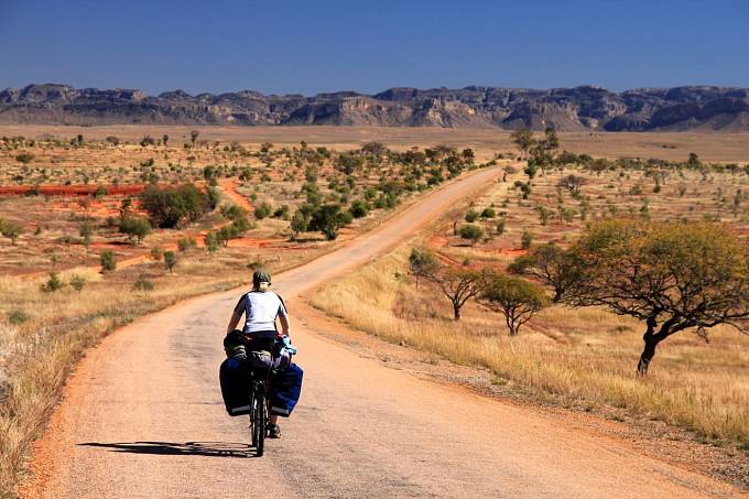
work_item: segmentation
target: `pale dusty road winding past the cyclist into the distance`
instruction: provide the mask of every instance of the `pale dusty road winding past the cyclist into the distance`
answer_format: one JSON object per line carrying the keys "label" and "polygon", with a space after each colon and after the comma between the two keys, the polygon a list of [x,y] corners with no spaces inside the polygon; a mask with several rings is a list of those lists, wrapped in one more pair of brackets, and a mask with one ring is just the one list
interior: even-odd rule
{"label": "pale dusty road winding past the cyclist into the distance", "polygon": [[[387,251],[491,182],[484,171],[275,279],[294,302]],[[302,400],[265,457],[228,417],[220,339],[239,292],[196,299],[109,336],[80,365],[34,462],[28,497],[701,497],[738,493],[572,431],[532,409],[416,379],[294,317]],[[351,306],[356,307],[356,303]],[[305,324],[305,322],[307,324]],[[43,492],[43,493],[41,493]]]}

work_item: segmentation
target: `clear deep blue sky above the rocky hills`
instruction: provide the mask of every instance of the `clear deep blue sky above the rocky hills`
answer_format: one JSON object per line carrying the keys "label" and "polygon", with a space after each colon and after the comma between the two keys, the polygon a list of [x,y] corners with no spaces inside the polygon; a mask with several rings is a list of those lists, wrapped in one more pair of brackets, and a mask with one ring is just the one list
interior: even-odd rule
{"label": "clear deep blue sky above the rocky hills", "polygon": [[0,0],[0,88],[749,87],[749,1]]}

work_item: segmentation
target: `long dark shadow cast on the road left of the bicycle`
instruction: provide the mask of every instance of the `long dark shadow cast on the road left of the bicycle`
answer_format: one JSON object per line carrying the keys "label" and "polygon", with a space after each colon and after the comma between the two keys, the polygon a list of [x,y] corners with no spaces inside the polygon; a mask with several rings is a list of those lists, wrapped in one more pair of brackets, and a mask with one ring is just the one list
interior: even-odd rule
{"label": "long dark shadow cast on the road left of the bicycle", "polygon": [[254,457],[247,444],[226,442],[86,442],[84,447],[109,448],[111,452],[132,454],[156,454],[162,456],[209,456],[209,457]]}

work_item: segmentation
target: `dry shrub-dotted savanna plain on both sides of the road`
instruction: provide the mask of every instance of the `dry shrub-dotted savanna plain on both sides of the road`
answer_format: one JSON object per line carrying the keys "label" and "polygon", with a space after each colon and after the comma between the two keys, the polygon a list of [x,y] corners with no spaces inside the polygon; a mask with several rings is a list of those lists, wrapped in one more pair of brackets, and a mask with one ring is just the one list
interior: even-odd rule
{"label": "dry shrub-dotted savanna plain on both sides of the road", "polygon": [[[532,174],[514,139],[355,127],[0,127],[0,490],[23,476],[76,361],[113,328],[245,283],[249,269],[298,265],[486,167],[503,175],[312,304],[487,371],[502,397],[679,429],[720,449],[710,473],[748,487],[749,337],[728,325],[687,328],[659,344],[638,376],[642,321],[555,303],[549,283],[517,262],[550,242],[567,248],[607,220],[719,225],[746,251],[749,134],[560,133]],[[421,273],[414,249],[455,274],[518,275],[543,290],[543,303],[512,330],[477,292],[456,319],[445,279]]]}

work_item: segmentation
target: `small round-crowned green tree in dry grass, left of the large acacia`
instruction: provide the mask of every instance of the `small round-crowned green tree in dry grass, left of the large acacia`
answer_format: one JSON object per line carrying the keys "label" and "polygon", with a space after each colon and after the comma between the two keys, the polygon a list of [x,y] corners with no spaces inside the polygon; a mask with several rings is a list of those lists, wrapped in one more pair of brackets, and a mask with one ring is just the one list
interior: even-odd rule
{"label": "small round-crowned green tree in dry grass, left of the large acacia", "polygon": [[490,308],[504,316],[510,336],[517,336],[520,327],[549,304],[541,286],[507,275],[491,279],[480,297]]}

